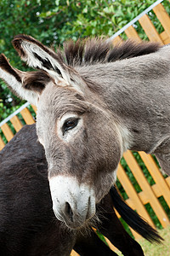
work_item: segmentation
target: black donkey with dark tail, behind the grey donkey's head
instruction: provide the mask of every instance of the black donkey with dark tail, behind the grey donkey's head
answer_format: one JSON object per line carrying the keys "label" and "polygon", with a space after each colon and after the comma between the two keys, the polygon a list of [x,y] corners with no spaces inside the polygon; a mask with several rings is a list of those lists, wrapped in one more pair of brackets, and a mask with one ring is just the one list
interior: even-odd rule
{"label": "black donkey with dark tail, behind the grey donkey's head", "polygon": [[[88,227],[69,230],[54,217],[48,186],[48,164],[37,142],[35,125],[24,126],[0,152],[0,253],[1,255],[69,255],[72,247],[81,255],[116,255]],[[97,206],[97,229],[123,255],[144,255],[137,241],[124,230],[113,209],[149,241],[160,241],[156,230],[144,223],[122,201],[116,189]],[[127,216],[126,216],[127,214]],[[92,222],[93,223],[93,222]],[[91,231],[90,231],[91,230]]]}

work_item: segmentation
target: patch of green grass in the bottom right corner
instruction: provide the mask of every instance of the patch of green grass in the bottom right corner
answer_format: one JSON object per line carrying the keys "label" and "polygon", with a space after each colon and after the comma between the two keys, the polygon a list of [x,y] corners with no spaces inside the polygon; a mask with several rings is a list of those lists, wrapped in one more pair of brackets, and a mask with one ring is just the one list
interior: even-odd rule
{"label": "patch of green grass in the bottom right corner", "polygon": [[[169,256],[170,255],[170,225],[159,231],[160,236],[164,239],[161,244],[150,243],[143,238],[139,240],[139,244],[144,250],[145,256]],[[117,252],[116,252],[117,253]],[[118,252],[118,255],[122,253]]]}

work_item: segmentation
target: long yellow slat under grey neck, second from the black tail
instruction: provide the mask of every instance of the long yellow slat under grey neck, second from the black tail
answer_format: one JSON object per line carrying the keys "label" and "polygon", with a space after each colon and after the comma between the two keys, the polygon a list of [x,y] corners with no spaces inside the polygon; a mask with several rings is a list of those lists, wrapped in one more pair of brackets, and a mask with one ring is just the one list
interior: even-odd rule
{"label": "long yellow slat under grey neck, second from the black tail", "polygon": [[163,208],[161,207],[161,203],[158,201],[153,190],[150,188],[150,184],[144,177],[144,173],[140,169],[138,162],[133,157],[132,152],[127,150],[127,152],[123,154],[123,157],[127,162],[127,166],[129,166],[129,168],[133,172],[133,176],[138,181],[140,188],[144,191],[144,194],[148,196],[150,206],[153,208],[154,212],[156,212],[156,216],[159,219],[162,227],[167,227],[167,225],[169,224],[167,213],[163,210]]}

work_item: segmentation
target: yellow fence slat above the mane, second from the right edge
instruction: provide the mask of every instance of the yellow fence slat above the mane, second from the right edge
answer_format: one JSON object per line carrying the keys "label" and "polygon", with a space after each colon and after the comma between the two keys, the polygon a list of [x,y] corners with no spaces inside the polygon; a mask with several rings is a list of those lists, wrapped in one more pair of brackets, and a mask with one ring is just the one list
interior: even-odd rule
{"label": "yellow fence slat above the mane, second from the right edge", "polygon": [[150,21],[150,18],[147,15],[143,15],[139,19],[140,25],[143,27],[144,32],[146,33],[147,37],[152,42],[159,42],[160,44],[163,44],[161,37],[159,36],[158,32],[156,31],[155,26],[153,26],[152,22]]}

